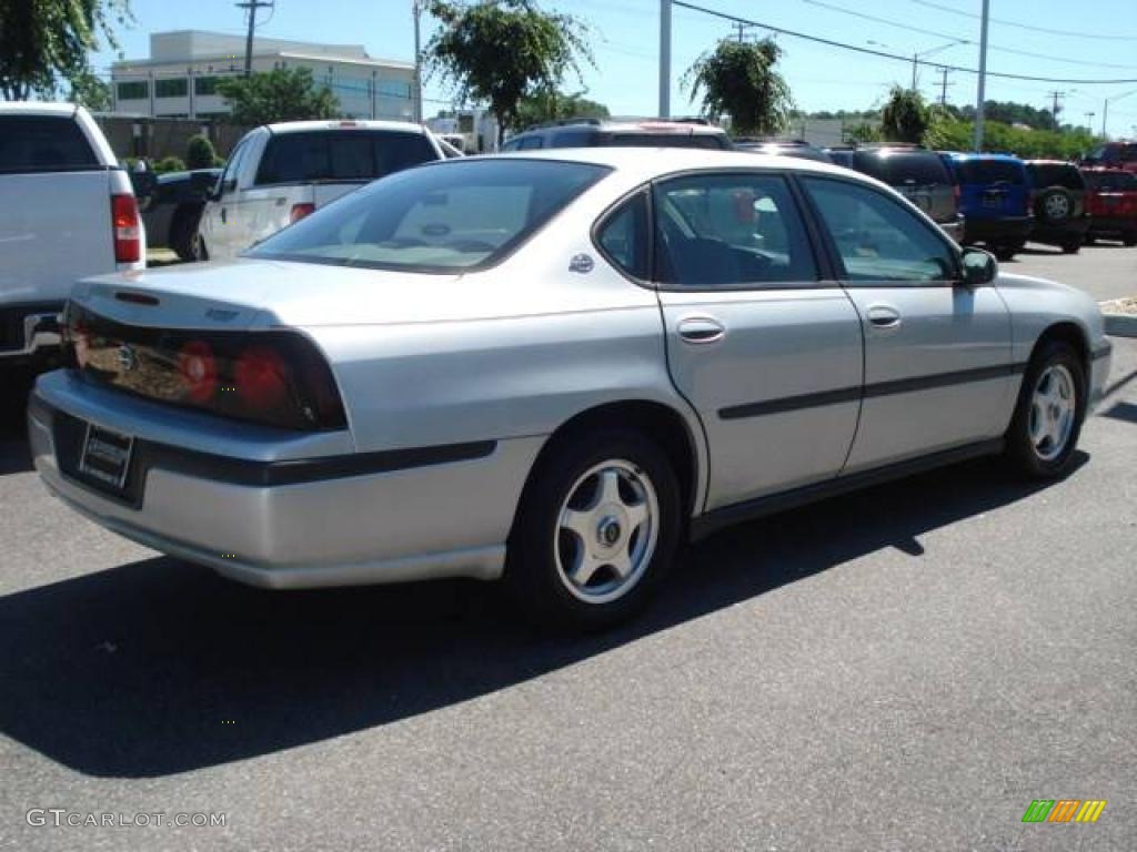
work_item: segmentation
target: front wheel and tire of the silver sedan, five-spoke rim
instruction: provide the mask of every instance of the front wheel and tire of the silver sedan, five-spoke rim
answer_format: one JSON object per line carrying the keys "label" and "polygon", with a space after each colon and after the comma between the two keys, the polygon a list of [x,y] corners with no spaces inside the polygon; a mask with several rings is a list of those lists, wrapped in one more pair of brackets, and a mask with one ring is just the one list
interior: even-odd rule
{"label": "front wheel and tire of the silver sedan, five-spoke rim", "polygon": [[1086,369],[1069,343],[1051,341],[1031,359],[1004,456],[1012,468],[1034,479],[1069,473],[1086,416]]}

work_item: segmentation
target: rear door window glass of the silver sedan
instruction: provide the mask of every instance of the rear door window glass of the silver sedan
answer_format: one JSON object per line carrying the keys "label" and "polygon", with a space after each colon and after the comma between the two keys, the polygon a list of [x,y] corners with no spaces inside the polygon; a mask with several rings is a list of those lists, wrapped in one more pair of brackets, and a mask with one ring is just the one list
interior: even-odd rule
{"label": "rear door window glass of the silver sedan", "polygon": [[781,175],[698,174],[655,187],[656,277],[677,287],[760,289],[818,279]]}

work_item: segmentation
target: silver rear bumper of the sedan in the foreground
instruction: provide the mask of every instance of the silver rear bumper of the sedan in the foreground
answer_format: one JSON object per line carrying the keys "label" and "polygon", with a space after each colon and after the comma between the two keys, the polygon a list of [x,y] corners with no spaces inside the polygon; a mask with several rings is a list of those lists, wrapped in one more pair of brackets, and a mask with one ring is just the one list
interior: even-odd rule
{"label": "silver rear bumper of the sedan in the foreground", "polygon": [[[499,577],[516,501],[542,443],[481,442],[476,451],[435,457],[451,460],[404,456],[358,474],[316,460],[326,475],[294,482],[292,474],[271,471],[312,461],[204,458],[163,446],[136,418],[125,427],[105,404],[107,392],[84,399],[60,376],[41,377],[27,414],[32,456],[48,488],[127,538],[268,588]],[[149,458],[139,463],[136,504],[81,477],[68,419],[134,437],[132,465]]]}

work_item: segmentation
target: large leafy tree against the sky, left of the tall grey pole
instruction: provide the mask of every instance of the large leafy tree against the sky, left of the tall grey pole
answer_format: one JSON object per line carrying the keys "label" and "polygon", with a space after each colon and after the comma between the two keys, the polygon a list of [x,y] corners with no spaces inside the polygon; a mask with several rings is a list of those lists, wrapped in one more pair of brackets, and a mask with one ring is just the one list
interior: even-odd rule
{"label": "large leafy tree against the sky, left of the tall grey pole", "polygon": [[533,0],[431,0],[428,9],[441,23],[426,45],[428,72],[453,87],[456,101],[489,103],[498,142],[522,126],[525,97],[556,91],[568,72],[580,78],[582,61],[595,65],[584,25]]}

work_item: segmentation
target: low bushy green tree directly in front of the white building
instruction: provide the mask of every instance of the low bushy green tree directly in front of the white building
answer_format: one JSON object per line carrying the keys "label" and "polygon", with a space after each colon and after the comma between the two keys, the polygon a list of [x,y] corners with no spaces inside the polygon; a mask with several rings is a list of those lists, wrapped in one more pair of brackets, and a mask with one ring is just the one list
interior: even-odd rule
{"label": "low bushy green tree directly in front of the white building", "polygon": [[236,124],[274,124],[334,118],[340,103],[327,86],[317,86],[309,68],[276,68],[248,77],[217,81]]}

